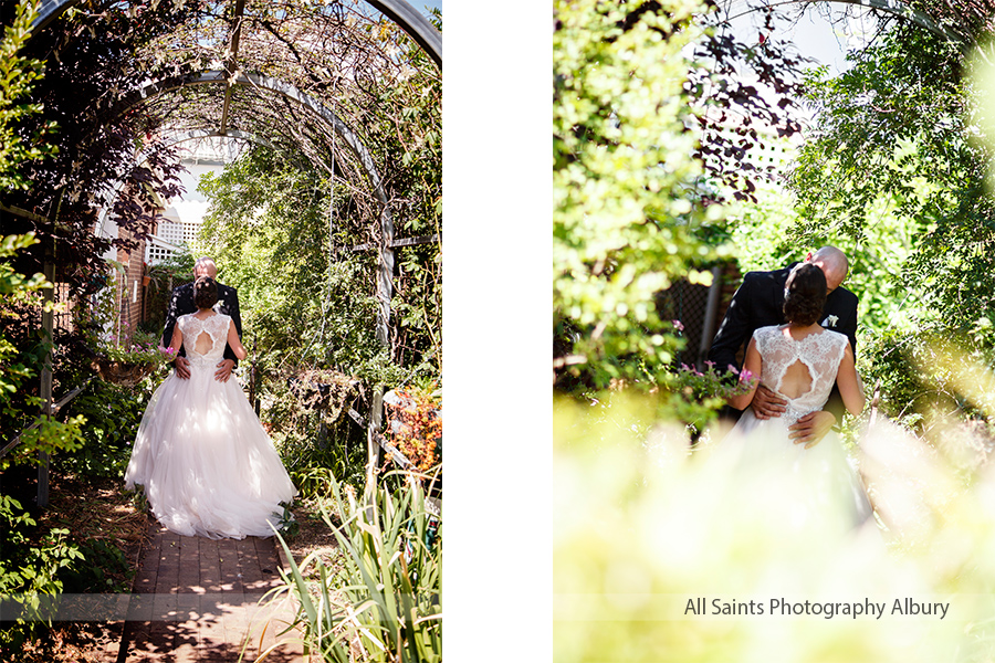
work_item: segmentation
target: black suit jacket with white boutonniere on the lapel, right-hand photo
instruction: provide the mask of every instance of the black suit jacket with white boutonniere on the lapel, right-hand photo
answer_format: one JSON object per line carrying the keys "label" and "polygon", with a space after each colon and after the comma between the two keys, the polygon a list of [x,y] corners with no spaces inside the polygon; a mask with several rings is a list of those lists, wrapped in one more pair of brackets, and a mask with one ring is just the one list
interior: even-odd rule
{"label": "black suit jacket with white boutonniere on the lapel, right-hand photo", "polygon": [[[736,355],[740,348],[750,343],[753,333],[761,327],[769,325],[783,325],[784,319],[784,284],[788,274],[798,263],[792,263],[783,270],[774,272],[750,272],[743,278],[743,284],[733,295],[725,318],[719,327],[709,350],[709,361],[715,364],[718,370],[726,370],[734,366],[741,367]],[[845,334],[850,339],[850,346],[857,351],[857,295],[838,287],[826,297],[823,315],[819,323],[827,329]],[[837,400],[834,389],[831,401]],[[834,402],[834,406],[836,403]],[[829,408],[836,414],[836,408]],[[837,419],[840,419],[837,414]]]}

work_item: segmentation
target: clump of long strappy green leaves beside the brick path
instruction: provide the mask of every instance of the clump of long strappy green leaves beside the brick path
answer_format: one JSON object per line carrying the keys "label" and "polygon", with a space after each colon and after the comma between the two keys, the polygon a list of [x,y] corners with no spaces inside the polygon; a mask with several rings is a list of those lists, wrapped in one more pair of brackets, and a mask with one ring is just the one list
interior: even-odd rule
{"label": "clump of long strappy green leaves beside the brick path", "polygon": [[[300,602],[294,625],[306,645],[336,663],[353,660],[350,645],[367,661],[441,661],[442,529],[421,483],[409,477],[397,491],[379,487],[362,501],[349,487],[345,495],[337,483],[333,488],[334,516],[342,524],[324,507],[322,515],[342,550],[337,573],[317,554],[295,564],[281,538],[291,573],[275,594],[292,592]],[[312,567],[316,583],[305,580]]]}

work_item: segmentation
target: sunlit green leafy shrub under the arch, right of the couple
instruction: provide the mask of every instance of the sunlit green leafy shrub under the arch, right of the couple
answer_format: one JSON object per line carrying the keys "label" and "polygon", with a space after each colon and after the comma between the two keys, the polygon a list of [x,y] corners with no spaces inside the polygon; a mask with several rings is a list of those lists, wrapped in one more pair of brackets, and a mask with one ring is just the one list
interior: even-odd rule
{"label": "sunlit green leafy shrub under the arch, right of the couple", "polygon": [[328,187],[316,171],[256,148],[206,175],[200,190],[212,201],[201,248],[238,288],[243,343],[268,372],[318,366],[398,379],[376,339],[373,256],[332,260],[329,248],[344,253],[350,240],[342,229],[329,235]]}

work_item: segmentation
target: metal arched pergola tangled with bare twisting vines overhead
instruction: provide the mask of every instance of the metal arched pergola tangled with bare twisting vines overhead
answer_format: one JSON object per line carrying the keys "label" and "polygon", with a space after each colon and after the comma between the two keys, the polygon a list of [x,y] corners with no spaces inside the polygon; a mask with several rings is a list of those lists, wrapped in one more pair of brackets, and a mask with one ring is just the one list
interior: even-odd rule
{"label": "metal arched pergola tangled with bare twisting vines overhead", "polygon": [[[42,0],[32,39],[59,24],[67,10],[84,1]],[[429,69],[433,63],[441,76],[441,34],[431,22],[406,0],[366,2],[417,44],[415,51],[425,52],[428,60],[417,62],[429,62]],[[145,52],[135,54],[133,70],[153,72],[151,81],[109,91],[106,96],[116,98],[97,122],[113,124],[135,113],[153,117],[170,135],[157,144],[158,149],[206,136],[268,145],[310,160],[349,185],[354,198],[360,196],[365,201],[363,219],[373,221],[376,230],[376,337],[390,347],[395,219],[383,173],[397,166],[378,164],[383,156],[370,149],[364,136],[376,113],[364,105],[377,103],[370,92],[377,86],[402,85],[407,80],[411,59],[398,56],[398,45],[410,49],[410,42],[395,39],[394,31],[381,32],[378,25],[383,19],[368,8],[334,0],[282,4],[283,13],[276,18],[260,0],[218,0],[187,7],[190,11],[180,15],[192,15],[193,22],[182,24],[175,34],[169,30],[158,32],[153,40],[161,39],[161,44],[149,42]],[[165,10],[160,7],[160,11]],[[188,52],[174,53],[171,49],[177,46]],[[168,55],[160,60],[163,52]],[[94,127],[94,141],[100,140],[100,129]],[[133,162],[140,165],[147,156],[139,150]],[[66,188],[73,186],[71,176],[63,181]],[[104,214],[121,186],[104,182]],[[52,222],[57,220],[59,200],[61,197],[48,206]],[[51,399],[51,380],[49,393],[43,396]],[[377,386],[373,396],[370,439],[380,427],[383,386]]]}

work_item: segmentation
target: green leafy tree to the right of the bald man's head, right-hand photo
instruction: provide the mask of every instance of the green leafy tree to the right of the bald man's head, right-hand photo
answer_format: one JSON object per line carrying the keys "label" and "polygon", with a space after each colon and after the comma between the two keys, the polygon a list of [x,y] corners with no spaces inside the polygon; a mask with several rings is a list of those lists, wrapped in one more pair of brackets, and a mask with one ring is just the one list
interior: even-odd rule
{"label": "green leafy tree to the right of the bald man's head, right-hand photo", "polygon": [[[870,329],[976,319],[995,297],[988,148],[968,112],[961,54],[899,23],[809,81],[816,128],[792,179],[799,242],[837,241],[857,257],[853,290]],[[862,281],[861,281],[862,280]],[[866,312],[866,314],[865,314]]]}

